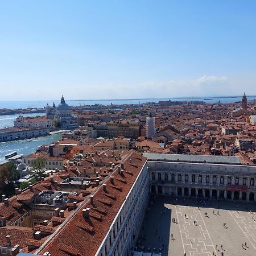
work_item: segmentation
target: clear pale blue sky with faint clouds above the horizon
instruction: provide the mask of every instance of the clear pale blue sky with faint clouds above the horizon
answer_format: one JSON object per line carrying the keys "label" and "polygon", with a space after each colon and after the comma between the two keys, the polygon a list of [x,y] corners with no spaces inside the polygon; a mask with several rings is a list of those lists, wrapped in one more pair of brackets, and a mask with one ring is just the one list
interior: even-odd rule
{"label": "clear pale blue sky with faint clouds above the horizon", "polygon": [[1,1],[0,101],[256,94],[256,1]]}

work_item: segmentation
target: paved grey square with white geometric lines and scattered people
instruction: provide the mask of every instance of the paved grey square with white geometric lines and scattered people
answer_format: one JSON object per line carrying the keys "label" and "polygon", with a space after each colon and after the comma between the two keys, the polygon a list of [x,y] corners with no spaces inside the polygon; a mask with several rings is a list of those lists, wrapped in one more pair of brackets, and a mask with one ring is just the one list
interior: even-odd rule
{"label": "paved grey square with white geometric lines and scattered people", "polygon": [[212,200],[198,208],[195,199],[151,199],[137,250],[171,256],[256,255],[256,214],[250,210],[255,212],[255,203]]}

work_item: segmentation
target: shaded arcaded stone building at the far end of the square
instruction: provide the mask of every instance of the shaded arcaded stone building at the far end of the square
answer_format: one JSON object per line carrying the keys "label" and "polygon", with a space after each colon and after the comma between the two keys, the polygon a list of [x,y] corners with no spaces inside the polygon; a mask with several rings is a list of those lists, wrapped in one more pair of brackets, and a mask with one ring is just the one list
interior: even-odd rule
{"label": "shaded arcaded stone building at the far end of the square", "polygon": [[[168,155],[143,154],[148,157],[150,191],[159,195],[256,201],[256,167],[225,163],[225,156],[216,156],[216,163],[168,160]],[[174,155],[172,155],[174,156]],[[179,158],[180,155],[177,155]],[[190,158],[189,155],[183,155]],[[164,160],[166,158],[166,160]],[[230,158],[230,157],[229,157]],[[233,157],[234,158],[234,157]],[[222,159],[218,163],[217,159]]]}

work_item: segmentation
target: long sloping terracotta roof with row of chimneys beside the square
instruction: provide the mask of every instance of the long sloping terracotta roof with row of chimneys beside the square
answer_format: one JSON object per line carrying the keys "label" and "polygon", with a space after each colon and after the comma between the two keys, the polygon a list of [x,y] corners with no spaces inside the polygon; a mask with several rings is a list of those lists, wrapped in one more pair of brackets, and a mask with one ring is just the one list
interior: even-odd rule
{"label": "long sloping terracotta roof with row of chimneys beside the square", "polygon": [[[83,208],[90,208],[90,218],[84,218],[82,216],[82,209],[80,209],[67,225],[51,239],[44,247],[43,251],[40,251],[40,254],[46,251],[49,251],[52,256],[64,256],[71,253],[71,251],[67,252],[59,247],[61,241],[65,241],[65,245],[77,250],[72,251],[73,255],[84,254],[85,251],[86,256],[91,256],[96,253],[106,233],[108,233],[109,227],[117,215],[118,210],[126,199],[127,193],[130,191],[143,164],[146,162],[146,158],[136,153],[131,154],[129,158],[132,164],[130,161],[125,161],[124,170],[133,175],[124,174],[121,176],[115,171],[112,174],[112,176],[114,176],[114,184],[110,183],[110,179],[105,181],[109,195],[114,196],[115,199],[114,197],[112,199],[103,196],[102,194],[105,194],[105,192],[101,186],[97,192],[94,193],[94,204],[90,204],[90,200],[88,200],[83,205]],[[126,183],[118,180],[120,178],[125,180]],[[122,191],[113,188],[112,185],[122,187]],[[74,237],[76,237],[76,239],[74,239]]]}

